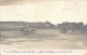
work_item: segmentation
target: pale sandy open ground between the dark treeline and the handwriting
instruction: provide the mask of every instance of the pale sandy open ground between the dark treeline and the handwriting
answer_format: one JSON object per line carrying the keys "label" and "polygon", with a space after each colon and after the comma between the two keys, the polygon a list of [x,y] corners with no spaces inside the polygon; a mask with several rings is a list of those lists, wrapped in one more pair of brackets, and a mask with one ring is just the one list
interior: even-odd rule
{"label": "pale sandy open ground between the dark treeline and the handwriting", "polygon": [[87,35],[61,33],[53,29],[38,29],[26,36],[21,31],[2,31],[1,50],[87,50]]}

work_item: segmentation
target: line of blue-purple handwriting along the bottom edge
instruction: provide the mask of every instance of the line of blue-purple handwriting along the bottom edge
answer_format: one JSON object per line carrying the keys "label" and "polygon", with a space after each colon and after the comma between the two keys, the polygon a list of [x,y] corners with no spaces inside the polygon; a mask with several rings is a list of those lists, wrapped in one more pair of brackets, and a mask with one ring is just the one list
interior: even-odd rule
{"label": "line of blue-purple handwriting along the bottom edge", "polygon": [[38,54],[40,54],[40,53],[73,53],[73,51],[28,51],[28,50],[20,50],[20,51],[16,51],[16,50],[4,50],[3,51],[4,53],[38,53]]}

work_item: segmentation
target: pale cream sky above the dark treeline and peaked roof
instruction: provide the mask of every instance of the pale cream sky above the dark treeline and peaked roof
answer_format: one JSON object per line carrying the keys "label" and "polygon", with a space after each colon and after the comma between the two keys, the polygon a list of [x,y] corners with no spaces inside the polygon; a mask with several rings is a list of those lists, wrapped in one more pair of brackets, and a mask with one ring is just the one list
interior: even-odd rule
{"label": "pale cream sky above the dark treeline and peaked roof", "polygon": [[0,22],[84,22],[87,0],[0,0]]}

